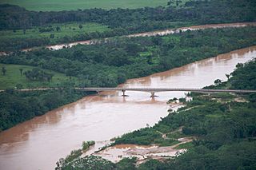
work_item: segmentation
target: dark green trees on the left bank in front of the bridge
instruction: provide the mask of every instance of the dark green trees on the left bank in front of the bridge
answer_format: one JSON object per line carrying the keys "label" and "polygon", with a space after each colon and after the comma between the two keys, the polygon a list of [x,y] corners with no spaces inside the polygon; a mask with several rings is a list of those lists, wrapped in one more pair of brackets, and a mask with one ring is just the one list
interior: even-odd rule
{"label": "dark green trees on the left bank in front of the bridge", "polygon": [[49,91],[0,93],[0,132],[18,123],[41,116],[62,105],[77,101],[87,93],[71,88]]}

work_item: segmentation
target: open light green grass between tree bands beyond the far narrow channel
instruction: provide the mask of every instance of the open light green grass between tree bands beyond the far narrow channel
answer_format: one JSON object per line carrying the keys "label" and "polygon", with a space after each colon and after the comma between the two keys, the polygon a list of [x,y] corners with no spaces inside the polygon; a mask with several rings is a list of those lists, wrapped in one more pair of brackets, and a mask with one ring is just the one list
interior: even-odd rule
{"label": "open light green grass between tree bands beyond the far narrow channel", "polygon": [[[82,29],[78,26],[82,25]],[[110,30],[107,26],[102,26],[98,23],[62,23],[62,24],[51,24],[53,31],[50,32],[39,32],[39,27],[35,27],[31,30],[26,30],[26,34],[23,34],[23,30],[2,30],[0,31],[0,39],[6,38],[50,38],[50,34],[54,34],[52,42],[57,42],[58,38],[63,38],[65,36],[73,37],[78,34],[92,33],[95,31],[104,32]],[[61,30],[57,31],[56,27],[60,27]],[[44,26],[47,27],[47,26]]]}

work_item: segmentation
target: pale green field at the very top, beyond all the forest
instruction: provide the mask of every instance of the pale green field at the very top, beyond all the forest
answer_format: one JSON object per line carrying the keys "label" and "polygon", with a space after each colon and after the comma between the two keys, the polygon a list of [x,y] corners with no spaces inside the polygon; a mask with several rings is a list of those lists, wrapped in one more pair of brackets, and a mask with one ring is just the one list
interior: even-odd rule
{"label": "pale green field at the very top, beyond all the forest", "polygon": [[145,6],[167,6],[169,0],[1,0],[0,3],[9,3],[25,7],[27,10],[58,11],[78,10],[90,8],[139,8]]}

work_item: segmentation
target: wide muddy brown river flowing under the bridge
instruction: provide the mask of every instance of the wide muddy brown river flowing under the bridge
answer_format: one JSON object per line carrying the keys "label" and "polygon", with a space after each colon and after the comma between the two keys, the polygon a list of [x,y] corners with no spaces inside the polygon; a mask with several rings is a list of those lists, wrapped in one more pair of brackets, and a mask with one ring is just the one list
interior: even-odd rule
{"label": "wide muddy brown river flowing under the bridge", "polygon": [[[239,49],[206,60],[184,65],[149,77],[126,81],[126,87],[181,87],[202,88],[217,78],[226,80],[225,73],[235,65],[256,57],[256,46]],[[53,169],[55,162],[75,148],[81,148],[83,140],[96,140],[104,144],[114,136],[135,129],[154,125],[160,117],[166,117],[173,97],[184,97],[182,92],[150,93],[102,92],[98,96],[65,105],[35,117],[0,133],[0,169]]]}

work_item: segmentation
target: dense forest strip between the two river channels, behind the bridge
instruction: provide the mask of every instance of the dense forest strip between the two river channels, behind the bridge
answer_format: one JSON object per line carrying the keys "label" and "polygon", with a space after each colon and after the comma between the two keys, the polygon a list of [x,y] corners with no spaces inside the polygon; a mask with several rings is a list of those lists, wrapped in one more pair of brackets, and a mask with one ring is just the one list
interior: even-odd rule
{"label": "dense forest strip between the two river channels, behind the bridge", "polygon": [[78,77],[81,87],[106,87],[255,45],[255,40],[254,27],[198,30],[164,37],[111,39],[56,51],[18,52],[1,57],[0,62],[33,65]]}

